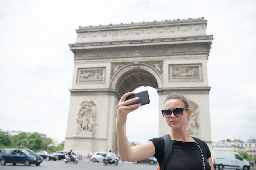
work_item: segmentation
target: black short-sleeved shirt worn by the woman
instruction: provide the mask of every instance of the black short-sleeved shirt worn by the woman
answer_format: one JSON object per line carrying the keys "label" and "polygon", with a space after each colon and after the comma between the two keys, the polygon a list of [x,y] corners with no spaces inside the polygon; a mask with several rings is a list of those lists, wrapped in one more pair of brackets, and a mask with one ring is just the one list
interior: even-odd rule
{"label": "black short-sleeved shirt worn by the woman", "polygon": [[[164,139],[150,139],[155,146],[155,158],[159,165],[162,163],[164,155]],[[204,170],[200,149],[195,142],[182,142],[173,140],[173,152],[168,163],[167,170]],[[207,155],[204,155],[205,170],[211,170],[207,159],[211,157],[211,152],[204,142]]]}

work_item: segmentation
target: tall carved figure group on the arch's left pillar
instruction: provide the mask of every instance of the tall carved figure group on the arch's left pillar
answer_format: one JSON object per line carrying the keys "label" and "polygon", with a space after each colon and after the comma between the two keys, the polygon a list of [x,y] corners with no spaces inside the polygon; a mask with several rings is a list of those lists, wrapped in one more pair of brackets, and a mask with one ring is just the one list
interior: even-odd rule
{"label": "tall carved figure group on the arch's left pillar", "polygon": [[76,133],[94,133],[96,127],[96,104],[93,101],[83,101],[77,113]]}

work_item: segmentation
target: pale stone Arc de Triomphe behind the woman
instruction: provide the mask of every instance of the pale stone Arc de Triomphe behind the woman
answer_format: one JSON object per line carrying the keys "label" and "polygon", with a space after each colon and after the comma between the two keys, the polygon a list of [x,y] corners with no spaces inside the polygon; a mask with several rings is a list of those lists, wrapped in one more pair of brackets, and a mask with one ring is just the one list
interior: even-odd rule
{"label": "pale stone Arc de Triomphe behind the woman", "polygon": [[[190,18],[79,27],[76,43],[69,44],[74,73],[64,150],[117,153],[117,103],[140,86],[157,89],[159,108],[168,94],[184,94],[193,112],[190,134],[211,145],[207,60],[213,36],[206,25],[204,18]],[[165,119],[158,128],[159,136],[170,130]]]}

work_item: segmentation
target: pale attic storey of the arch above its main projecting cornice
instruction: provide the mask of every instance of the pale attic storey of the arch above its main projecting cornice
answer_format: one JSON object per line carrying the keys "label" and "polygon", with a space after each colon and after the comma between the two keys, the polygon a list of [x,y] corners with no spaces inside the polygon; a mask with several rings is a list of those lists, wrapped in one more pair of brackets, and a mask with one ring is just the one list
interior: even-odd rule
{"label": "pale attic storey of the arch above its main projecting cornice", "polygon": [[76,44],[206,36],[204,18],[79,27]]}

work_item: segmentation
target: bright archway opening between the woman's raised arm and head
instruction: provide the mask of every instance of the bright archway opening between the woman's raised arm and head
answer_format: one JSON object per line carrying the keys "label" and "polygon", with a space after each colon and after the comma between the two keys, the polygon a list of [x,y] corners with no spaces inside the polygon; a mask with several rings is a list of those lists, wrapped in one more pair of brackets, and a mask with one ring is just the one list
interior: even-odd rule
{"label": "bright archway opening between the woman's raised arm and head", "polygon": [[158,137],[159,96],[151,86],[141,86],[132,91],[148,90],[150,103],[128,114],[126,134],[130,143],[143,144],[151,138]]}

